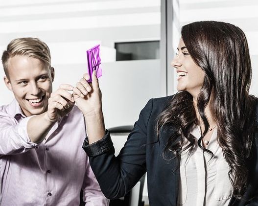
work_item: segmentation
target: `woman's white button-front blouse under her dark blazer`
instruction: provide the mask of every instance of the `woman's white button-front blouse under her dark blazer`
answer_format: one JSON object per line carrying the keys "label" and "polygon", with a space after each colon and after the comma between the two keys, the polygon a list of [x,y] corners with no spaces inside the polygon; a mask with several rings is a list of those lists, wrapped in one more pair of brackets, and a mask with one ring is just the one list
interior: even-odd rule
{"label": "woman's white button-front blouse under her dark blazer", "polygon": [[228,176],[230,167],[217,141],[217,128],[206,147],[213,153],[213,158],[197,144],[201,137],[200,127],[195,126],[191,134],[196,137],[195,148],[189,157],[188,150],[181,155],[178,206],[229,205],[233,186]]}

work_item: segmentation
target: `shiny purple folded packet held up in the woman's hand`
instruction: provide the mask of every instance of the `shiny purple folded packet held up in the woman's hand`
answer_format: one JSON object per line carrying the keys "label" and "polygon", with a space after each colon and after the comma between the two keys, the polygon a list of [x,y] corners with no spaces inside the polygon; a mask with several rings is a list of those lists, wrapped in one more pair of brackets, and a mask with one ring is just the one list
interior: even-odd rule
{"label": "shiny purple folded packet held up in the woman's hand", "polygon": [[88,58],[88,74],[90,74],[90,79],[88,82],[92,82],[93,71],[96,70],[97,78],[102,75],[102,69],[100,67],[101,59],[99,57],[99,45],[87,50]]}

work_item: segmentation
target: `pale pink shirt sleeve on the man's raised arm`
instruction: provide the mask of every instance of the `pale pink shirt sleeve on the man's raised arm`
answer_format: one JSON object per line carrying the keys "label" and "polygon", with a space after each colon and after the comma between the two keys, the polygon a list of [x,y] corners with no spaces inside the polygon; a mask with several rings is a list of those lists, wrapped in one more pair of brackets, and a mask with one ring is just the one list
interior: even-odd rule
{"label": "pale pink shirt sleeve on the man's raised arm", "polygon": [[24,153],[38,146],[31,142],[27,134],[27,123],[31,117],[23,118],[16,124],[11,117],[0,115],[0,156]]}

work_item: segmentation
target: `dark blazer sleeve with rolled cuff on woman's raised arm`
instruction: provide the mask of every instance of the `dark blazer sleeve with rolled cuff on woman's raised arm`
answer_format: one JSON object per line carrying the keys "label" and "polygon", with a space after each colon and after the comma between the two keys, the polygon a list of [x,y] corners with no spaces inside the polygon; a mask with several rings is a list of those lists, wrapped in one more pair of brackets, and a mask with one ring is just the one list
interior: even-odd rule
{"label": "dark blazer sleeve with rolled cuff on woman's raised arm", "polygon": [[89,145],[87,138],[84,141],[83,149],[88,154],[95,177],[108,199],[124,196],[146,172],[147,125],[152,107],[153,99],[150,99],[117,157],[108,131],[105,137],[93,144]]}

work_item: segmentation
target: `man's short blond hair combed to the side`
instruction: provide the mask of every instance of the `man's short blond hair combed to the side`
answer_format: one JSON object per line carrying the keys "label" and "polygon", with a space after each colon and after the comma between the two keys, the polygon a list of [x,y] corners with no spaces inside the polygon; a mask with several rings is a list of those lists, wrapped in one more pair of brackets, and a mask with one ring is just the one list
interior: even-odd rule
{"label": "man's short blond hair combed to the side", "polygon": [[5,75],[8,77],[9,59],[15,55],[24,55],[40,60],[50,69],[51,56],[46,43],[38,38],[18,38],[12,40],[2,53],[2,64]]}

